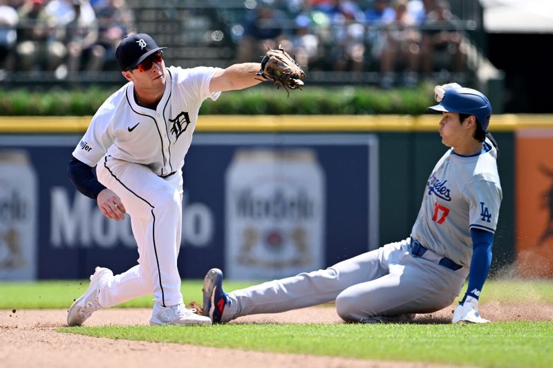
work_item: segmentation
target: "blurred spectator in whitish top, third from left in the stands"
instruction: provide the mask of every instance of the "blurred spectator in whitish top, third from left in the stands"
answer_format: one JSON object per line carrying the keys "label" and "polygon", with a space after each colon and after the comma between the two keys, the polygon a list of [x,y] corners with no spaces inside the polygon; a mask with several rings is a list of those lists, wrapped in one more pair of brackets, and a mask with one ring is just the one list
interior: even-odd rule
{"label": "blurred spectator in whitish top, third from left in the stands", "polygon": [[105,49],[96,43],[98,25],[94,12],[86,14],[83,8],[92,9],[88,0],[73,0],[73,19],[66,24],[64,43],[67,47],[67,69],[81,70],[86,61],[86,71],[98,71],[104,64]]}

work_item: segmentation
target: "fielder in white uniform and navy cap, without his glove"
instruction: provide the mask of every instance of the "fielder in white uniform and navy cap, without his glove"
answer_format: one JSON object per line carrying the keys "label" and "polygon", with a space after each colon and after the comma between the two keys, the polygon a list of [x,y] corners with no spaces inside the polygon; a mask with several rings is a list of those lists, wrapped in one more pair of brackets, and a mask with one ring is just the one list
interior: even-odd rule
{"label": "fielder in white uniform and navy cap, without his glove", "polygon": [[101,307],[152,293],[151,325],[212,323],[186,309],[180,293],[181,168],[202,102],[259,84],[261,64],[166,68],[163,49],[144,33],[122,40],[116,57],[129,82],[97,110],[73,151],[68,176],[106,217],[122,220],[129,213],[139,258],[120,275],[97,267],[68,311],[70,326]]}

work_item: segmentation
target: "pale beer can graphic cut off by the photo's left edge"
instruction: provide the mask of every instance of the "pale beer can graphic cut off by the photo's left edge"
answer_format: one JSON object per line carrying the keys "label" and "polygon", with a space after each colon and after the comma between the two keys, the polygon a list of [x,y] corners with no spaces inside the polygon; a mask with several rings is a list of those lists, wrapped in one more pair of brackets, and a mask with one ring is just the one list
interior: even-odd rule
{"label": "pale beer can graphic cut off by the photo's left edge", "polygon": [[0,151],[0,280],[36,278],[37,179],[25,151]]}

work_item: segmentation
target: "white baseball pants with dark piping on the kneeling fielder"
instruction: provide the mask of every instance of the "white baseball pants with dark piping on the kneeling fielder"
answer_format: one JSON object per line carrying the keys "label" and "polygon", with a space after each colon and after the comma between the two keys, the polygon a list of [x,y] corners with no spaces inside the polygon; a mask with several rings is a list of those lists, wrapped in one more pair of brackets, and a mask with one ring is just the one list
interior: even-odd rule
{"label": "white baseball pants with dark piping on the kneeling fielder", "polygon": [[164,307],[182,302],[177,257],[182,225],[182,172],[163,179],[147,166],[106,156],[98,181],[117,194],[131,216],[138,264],[109,280],[100,305],[112,307],[153,293]]}

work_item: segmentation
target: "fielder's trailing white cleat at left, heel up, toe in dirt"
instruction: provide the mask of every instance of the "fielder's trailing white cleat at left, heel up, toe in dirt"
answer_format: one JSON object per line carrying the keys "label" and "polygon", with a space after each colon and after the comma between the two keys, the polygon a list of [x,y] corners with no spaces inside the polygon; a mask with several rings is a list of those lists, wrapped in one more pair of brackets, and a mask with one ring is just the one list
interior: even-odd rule
{"label": "fielder's trailing white cleat at left, heel up, toe in dirt", "polygon": [[96,267],[94,275],[91,275],[91,283],[88,285],[88,289],[69,308],[67,313],[68,326],[82,325],[92,313],[102,308],[100,302],[98,302],[98,295],[100,295],[100,289],[104,287],[108,278],[113,278],[113,272],[110,269]]}

